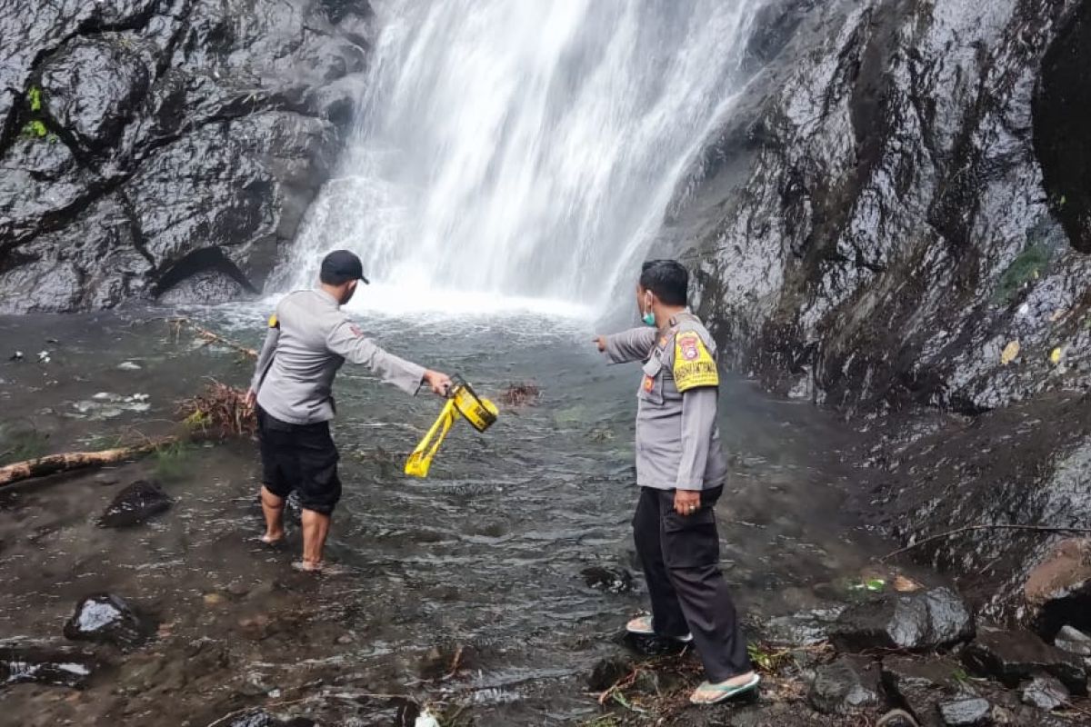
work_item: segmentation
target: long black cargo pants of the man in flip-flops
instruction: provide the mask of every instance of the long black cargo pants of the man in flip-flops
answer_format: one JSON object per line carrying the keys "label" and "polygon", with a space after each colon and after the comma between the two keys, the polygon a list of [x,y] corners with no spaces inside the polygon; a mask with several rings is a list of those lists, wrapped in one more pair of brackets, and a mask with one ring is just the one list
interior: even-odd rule
{"label": "long black cargo pants of the man in flip-flops", "polygon": [[720,536],[714,506],[723,487],[700,494],[700,509],[674,511],[674,490],[640,487],[633,538],[651,595],[656,633],[693,643],[711,682],[751,670],[735,606],[720,571]]}

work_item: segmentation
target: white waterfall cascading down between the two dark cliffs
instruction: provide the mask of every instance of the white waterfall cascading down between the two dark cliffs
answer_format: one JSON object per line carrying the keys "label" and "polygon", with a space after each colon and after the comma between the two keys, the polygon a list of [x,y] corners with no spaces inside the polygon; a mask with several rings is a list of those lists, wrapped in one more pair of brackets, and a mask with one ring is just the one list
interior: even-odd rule
{"label": "white waterfall cascading down between the two dark cliffs", "polygon": [[355,141],[283,279],[346,247],[386,304],[601,304],[730,112],[759,5],[379,4]]}

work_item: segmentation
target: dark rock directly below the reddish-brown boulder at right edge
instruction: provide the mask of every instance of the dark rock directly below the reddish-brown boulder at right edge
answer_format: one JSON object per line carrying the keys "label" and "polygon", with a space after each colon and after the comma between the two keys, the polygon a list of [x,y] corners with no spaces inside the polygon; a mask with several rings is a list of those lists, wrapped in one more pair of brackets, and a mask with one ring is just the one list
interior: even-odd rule
{"label": "dark rock directly below the reddish-brown boulder at right edge", "polygon": [[982,630],[962,651],[962,661],[974,673],[994,677],[1012,689],[1023,679],[1045,673],[1072,693],[1087,693],[1082,659],[1051,646],[1030,631]]}

